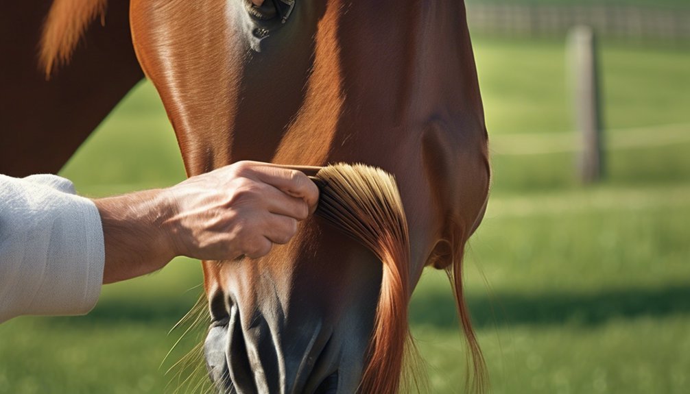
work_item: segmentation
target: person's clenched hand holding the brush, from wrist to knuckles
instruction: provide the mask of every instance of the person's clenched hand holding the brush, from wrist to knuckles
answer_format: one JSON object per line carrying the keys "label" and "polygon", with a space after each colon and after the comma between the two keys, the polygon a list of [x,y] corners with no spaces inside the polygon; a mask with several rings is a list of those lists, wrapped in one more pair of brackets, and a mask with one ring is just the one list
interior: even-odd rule
{"label": "person's clenched hand holding the brush, from wrist to knuckles", "polygon": [[241,161],[165,190],[163,223],[176,255],[202,260],[259,258],[295,235],[316,209],[319,190],[302,172]]}

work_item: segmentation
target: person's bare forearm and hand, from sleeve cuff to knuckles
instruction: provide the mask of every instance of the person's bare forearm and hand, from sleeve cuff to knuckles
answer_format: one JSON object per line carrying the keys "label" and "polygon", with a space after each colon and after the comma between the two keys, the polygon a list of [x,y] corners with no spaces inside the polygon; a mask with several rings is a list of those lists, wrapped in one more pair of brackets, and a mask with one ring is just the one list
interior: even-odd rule
{"label": "person's bare forearm and hand, from sleeve cuff to knuckles", "polygon": [[243,161],[167,189],[94,200],[106,251],[103,283],[156,271],[175,256],[258,258],[288,242],[319,199],[304,174],[318,167],[294,168]]}

